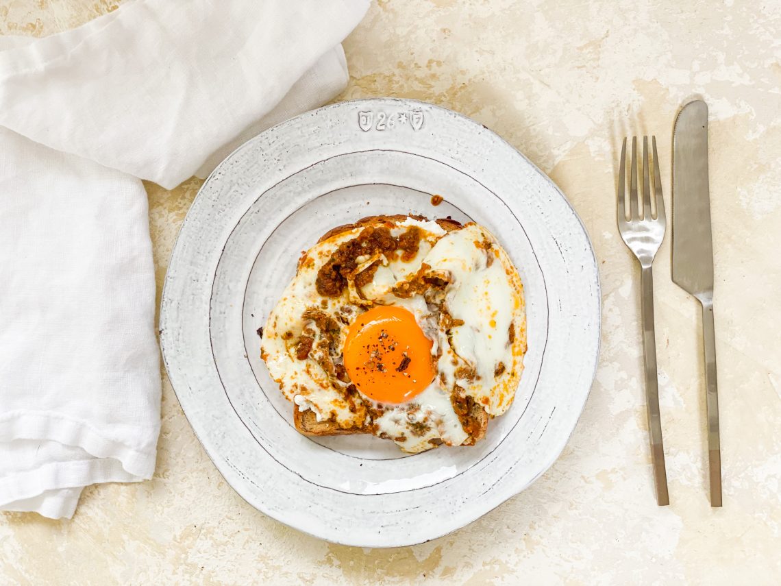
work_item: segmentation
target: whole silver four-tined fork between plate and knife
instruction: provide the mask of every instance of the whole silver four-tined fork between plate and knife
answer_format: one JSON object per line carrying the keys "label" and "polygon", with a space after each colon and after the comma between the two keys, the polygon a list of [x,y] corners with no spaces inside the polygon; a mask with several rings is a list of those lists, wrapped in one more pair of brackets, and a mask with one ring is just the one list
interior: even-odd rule
{"label": "whole silver four-tined fork between plate and knife", "polygon": [[[656,137],[651,137],[654,147],[654,192],[648,177],[648,137],[643,137],[643,164],[637,160],[637,137],[632,138],[632,162],[629,166],[629,219],[626,217],[624,191],[626,190],[626,138],[621,148],[619,168],[619,198],[616,215],[619,232],[624,243],[640,261],[640,284],[643,319],[643,348],[645,354],[645,398],[648,410],[648,433],[651,436],[651,461],[654,466],[656,502],[669,505],[665,449],[662,444],[662,419],[659,416],[659,386],[656,370],[656,336],[654,334],[654,273],[651,266],[654,256],[665,238],[665,202],[662,198],[662,178],[659,176],[659,159],[656,154]],[[643,173],[642,193],[637,191],[637,175]],[[651,197],[656,202],[656,216],[651,215]],[[643,208],[640,209],[640,199]],[[642,216],[640,215],[642,212]]]}

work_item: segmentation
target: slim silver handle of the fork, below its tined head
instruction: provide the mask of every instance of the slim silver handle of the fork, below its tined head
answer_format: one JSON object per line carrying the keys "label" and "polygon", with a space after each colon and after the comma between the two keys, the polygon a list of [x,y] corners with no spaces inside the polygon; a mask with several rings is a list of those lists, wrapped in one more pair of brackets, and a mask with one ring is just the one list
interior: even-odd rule
{"label": "slim silver handle of the fork, below its tined head", "polygon": [[643,349],[645,357],[645,400],[648,411],[648,434],[651,439],[651,462],[654,466],[656,502],[669,505],[665,448],[662,444],[662,418],[659,414],[659,384],[656,370],[656,334],[654,333],[654,273],[651,265],[640,273],[643,320]]}

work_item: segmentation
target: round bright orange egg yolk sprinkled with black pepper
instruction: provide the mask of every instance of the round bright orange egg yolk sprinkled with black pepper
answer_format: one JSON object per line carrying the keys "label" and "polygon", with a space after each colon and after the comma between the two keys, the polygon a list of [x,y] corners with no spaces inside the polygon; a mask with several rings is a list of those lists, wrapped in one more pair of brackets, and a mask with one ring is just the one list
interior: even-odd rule
{"label": "round bright orange egg yolk sprinkled with black pepper", "polygon": [[363,395],[403,403],[433,381],[431,346],[407,309],[376,306],[348,328],[344,368]]}

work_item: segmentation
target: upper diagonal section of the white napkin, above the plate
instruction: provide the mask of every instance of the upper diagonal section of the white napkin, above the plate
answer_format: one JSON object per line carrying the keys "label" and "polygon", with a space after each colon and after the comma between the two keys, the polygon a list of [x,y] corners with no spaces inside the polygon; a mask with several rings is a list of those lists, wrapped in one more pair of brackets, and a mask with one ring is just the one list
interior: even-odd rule
{"label": "upper diagonal section of the white napkin, above the plate", "polygon": [[127,2],[2,52],[0,125],[170,189],[266,116],[367,8],[366,0]]}

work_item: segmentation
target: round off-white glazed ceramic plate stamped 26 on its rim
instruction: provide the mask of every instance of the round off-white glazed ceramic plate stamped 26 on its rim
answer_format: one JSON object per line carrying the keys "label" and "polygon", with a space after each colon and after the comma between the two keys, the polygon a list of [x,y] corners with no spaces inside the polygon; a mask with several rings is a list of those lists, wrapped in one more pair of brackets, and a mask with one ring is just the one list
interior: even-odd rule
{"label": "round off-white glazed ceramic plate stamped 26 on its rim", "polygon": [[[411,212],[482,223],[519,268],[529,351],[515,402],[474,447],[409,456],[370,436],[306,438],[256,330],[320,234]],[[518,494],[564,448],[597,366],[597,266],[561,191],[487,128],[412,100],[342,102],[267,130],[216,168],[173,250],[160,327],[187,419],[251,505],[329,541],[412,545]]]}

